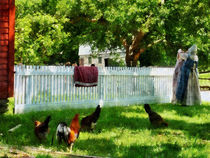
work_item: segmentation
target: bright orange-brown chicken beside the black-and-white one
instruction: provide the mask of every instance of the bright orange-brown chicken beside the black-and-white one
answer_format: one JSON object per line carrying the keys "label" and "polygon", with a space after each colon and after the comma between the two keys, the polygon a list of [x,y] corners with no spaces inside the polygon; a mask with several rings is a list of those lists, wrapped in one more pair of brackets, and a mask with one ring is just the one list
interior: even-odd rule
{"label": "bright orange-brown chicken beside the black-and-white one", "polygon": [[80,132],[79,114],[76,114],[70,124],[70,134],[68,138],[68,145],[70,147],[70,152],[72,151],[74,142],[79,137],[79,132]]}

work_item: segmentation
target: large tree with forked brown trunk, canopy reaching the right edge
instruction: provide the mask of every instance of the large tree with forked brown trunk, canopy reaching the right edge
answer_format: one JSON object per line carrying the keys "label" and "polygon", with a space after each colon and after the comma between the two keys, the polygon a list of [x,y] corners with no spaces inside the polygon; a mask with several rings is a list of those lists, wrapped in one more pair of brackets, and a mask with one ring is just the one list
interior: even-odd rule
{"label": "large tree with forked brown trunk, canopy reaching the right edge", "polygon": [[206,56],[207,6],[205,0],[61,0],[57,13],[68,18],[70,26],[79,28],[81,42],[90,42],[101,49],[123,46],[127,66],[136,66],[143,52],[155,50],[159,52],[153,53],[154,56],[171,64],[167,57],[175,61],[177,49],[186,49],[193,43]]}

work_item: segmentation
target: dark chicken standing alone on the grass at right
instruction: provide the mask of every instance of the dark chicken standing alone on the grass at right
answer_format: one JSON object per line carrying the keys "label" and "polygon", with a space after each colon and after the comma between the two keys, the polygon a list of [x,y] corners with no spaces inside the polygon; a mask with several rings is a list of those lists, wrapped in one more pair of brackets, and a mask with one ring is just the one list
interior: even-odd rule
{"label": "dark chicken standing alone on the grass at right", "polygon": [[156,112],[152,111],[149,104],[144,104],[144,109],[149,115],[150,123],[153,126],[160,127],[160,126],[168,126],[168,123],[163,120],[163,118],[157,114]]}

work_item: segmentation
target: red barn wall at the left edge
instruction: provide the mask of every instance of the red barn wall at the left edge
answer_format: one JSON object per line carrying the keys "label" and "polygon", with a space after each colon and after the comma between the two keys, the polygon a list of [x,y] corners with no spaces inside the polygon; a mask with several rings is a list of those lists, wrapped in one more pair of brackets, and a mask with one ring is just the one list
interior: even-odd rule
{"label": "red barn wall at the left edge", "polygon": [[15,0],[0,0],[0,99],[14,92]]}

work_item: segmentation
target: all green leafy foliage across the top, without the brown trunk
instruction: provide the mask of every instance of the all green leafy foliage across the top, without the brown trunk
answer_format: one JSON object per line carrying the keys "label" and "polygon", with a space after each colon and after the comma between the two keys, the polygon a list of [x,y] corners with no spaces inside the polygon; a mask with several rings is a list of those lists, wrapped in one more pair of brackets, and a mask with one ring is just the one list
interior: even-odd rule
{"label": "all green leafy foliage across the top, without the brown trunk", "polygon": [[207,0],[16,0],[16,6],[17,63],[77,61],[80,44],[123,48],[122,39],[131,44],[142,30],[139,47],[150,45],[140,56],[142,66],[174,66],[177,50],[195,43],[199,68],[209,67]]}

